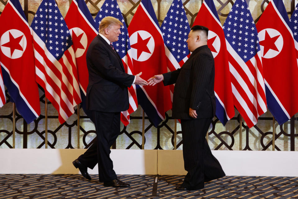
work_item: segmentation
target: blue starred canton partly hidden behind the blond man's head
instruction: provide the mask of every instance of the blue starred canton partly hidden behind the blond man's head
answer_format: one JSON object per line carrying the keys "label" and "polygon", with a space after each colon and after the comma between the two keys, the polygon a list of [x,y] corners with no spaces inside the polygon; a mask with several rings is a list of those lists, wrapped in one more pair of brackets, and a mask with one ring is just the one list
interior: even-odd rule
{"label": "blue starred canton partly hidden behind the blond man's head", "polygon": [[126,55],[127,51],[130,49],[130,43],[127,27],[117,1],[106,0],[103,3],[102,7],[97,13],[97,16],[95,17],[95,22],[98,25],[97,30],[99,28],[100,21],[106,16],[113,16],[123,23],[120,28],[121,34],[118,37],[118,41],[112,43],[120,58],[123,58]]}

